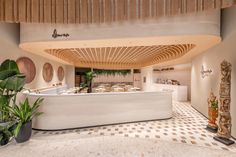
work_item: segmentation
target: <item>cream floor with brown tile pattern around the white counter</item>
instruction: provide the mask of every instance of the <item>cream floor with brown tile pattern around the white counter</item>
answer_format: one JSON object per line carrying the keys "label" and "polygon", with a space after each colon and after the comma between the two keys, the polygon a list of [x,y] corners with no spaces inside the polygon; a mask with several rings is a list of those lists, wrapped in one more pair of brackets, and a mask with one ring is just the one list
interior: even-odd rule
{"label": "cream floor with brown tile pattern around the white counter", "polygon": [[141,139],[160,139],[213,149],[236,152],[236,144],[225,146],[213,139],[215,134],[205,130],[207,119],[193,109],[190,103],[173,103],[173,118],[160,121],[109,125],[67,131],[34,131],[35,137],[75,132],[78,138],[98,136],[124,136]]}

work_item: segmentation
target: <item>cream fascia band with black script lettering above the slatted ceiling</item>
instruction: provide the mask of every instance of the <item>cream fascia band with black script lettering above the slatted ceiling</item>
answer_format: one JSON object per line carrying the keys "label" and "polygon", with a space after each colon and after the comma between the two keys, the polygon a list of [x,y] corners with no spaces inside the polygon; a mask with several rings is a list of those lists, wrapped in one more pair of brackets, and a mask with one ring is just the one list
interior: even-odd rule
{"label": "cream fascia band with black script lettering above the slatted ceiling", "polygon": [[[158,18],[157,20],[133,21],[122,23],[119,22],[111,24],[66,24],[65,27],[65,24],[21,23],[21,43],[37,41],[43,42],[79,40],[80,42],[85,41],[82,47],[91,47],[91,44],[86,44],[90,40],[124,40],[126,38],[196,34],[208,34],[218,36],[220,29],[219,17],[219,10],[211,10],[206,12],[199,12],[197,14],[194,13],[181,16],[163,17]],[[52,33],[55,28],[57,29],[58,33],[69,33],[70,36],[66,39],[52,38]],[[34,34],[33,36],[32,32]],[[120,42],[122,42],[122,40]],[[108,46],[110,45],[111,42],[108,41]]]}

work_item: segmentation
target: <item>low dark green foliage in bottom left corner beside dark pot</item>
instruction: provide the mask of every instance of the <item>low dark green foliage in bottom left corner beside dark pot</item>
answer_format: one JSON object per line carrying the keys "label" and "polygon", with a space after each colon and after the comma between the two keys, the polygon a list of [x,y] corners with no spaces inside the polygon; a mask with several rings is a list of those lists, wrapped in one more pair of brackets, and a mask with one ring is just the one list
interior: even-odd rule
{"label": "low dark green foliage in bottom left corner beside dark pot", "polygon": [[0,126],[0,145],[6,145],[14,136],[14,123],[11,122],[7,126]]}

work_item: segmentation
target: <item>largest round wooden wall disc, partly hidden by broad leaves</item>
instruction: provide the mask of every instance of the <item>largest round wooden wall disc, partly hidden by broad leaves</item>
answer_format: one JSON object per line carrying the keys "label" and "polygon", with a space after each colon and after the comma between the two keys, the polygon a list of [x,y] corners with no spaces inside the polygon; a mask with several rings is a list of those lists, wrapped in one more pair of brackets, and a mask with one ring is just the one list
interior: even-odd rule
{"label": "largest round wooden wall disc, partly hidden by broad leaves", "polygon": [[26,83],[31,83],[36,75],[34,62],[28,57],[20,57],[16,60],[21,73],[26,76]]}

